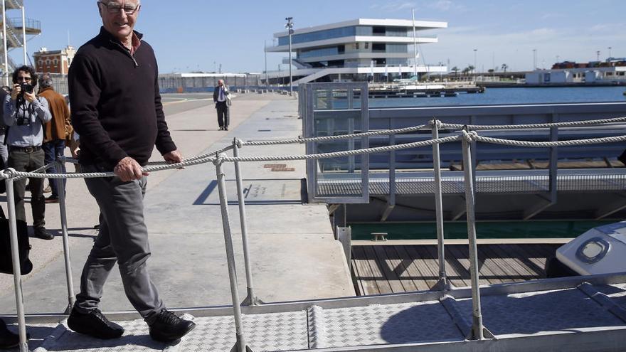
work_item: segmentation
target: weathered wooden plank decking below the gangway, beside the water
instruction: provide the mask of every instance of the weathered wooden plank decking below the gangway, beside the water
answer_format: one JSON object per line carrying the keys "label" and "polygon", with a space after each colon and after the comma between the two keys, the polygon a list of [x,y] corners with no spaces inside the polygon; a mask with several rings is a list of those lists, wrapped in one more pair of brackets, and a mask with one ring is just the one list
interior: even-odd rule
{"label": "weathered wooden plank decking below the gangway, beside the water", "polygon": [[[478,245],[480,284],[499,284],[546,277],[546,258],[559,244]],[[455,287],[470,286],[467,245],[446,245],[446,274]],[[437,282],[436,245],[353,245],[356,289],[364,294],[428,290]]]}

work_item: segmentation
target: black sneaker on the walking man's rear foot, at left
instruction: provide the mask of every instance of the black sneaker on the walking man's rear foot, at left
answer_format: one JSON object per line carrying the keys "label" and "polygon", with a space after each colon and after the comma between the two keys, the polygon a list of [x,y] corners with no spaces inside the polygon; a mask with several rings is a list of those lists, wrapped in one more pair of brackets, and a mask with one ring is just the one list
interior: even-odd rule
{"label": "black sneaker on the walking man's rear foot, at left", "polygon": [[82,314],[72,309],[68,318],[68,326],[80,334],[89,335],[103,340],[118,338],[124,334],[124,328],[112,323],[102,315],[100,309],[93,309],[87,314]]}

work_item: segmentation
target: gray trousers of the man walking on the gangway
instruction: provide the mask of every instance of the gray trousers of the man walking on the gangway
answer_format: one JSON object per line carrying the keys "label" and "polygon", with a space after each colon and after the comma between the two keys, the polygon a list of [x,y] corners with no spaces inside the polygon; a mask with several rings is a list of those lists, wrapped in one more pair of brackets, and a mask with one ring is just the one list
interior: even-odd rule
{"label": "gray trousers of the man walking on the gangway", "polygon": [[[94,165],[81,167],[83,172],[106,171]],[[146,266],[150,257],[143,202],[147,178],[131,182],[117,177],[85,178],[85,183],[100,207],[100,233],[85,262],[75,308],[80,313],[97,308],[117,262],[126,297],[151,324],[164,305]]]}

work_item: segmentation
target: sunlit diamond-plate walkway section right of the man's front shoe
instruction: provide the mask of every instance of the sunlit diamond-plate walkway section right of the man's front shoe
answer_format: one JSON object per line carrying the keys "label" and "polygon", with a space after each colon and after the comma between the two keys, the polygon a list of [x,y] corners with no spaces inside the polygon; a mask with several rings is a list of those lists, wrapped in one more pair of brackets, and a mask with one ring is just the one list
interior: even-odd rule
{"label": "sunlit diamond-plate walkway section right of the man's front shoe", "polygon": [[[228,352],[235,345],[233,316],[196,318],[193,321],[196,329],[181,342],[179,351]],[[309,348],[306,311],[244,315],[243,332],[255,352]]]}

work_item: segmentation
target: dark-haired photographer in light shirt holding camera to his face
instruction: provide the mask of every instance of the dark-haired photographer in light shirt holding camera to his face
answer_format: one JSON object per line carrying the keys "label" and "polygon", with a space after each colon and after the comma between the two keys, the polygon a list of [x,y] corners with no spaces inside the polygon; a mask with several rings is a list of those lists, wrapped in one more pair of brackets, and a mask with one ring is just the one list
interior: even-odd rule
{"label": "dark-haired photographer in light shirt holding camera to his face", "polygon": [[[43,124],[51,120],[48,101],[35,95],[35,70],[23,65],[13,73],[13,90],[4,97],[4,124],[6,145],[9,146],[9,167],[16,171],[33,171],[43,166]],[[54,236],[46,231],[46,201],[43,197],[43,178],[30,178],[31,208],[34,235],[43,240]],[[15,213],[18,220],[26,221],[24,193],[26,179],[15,181]]]}

